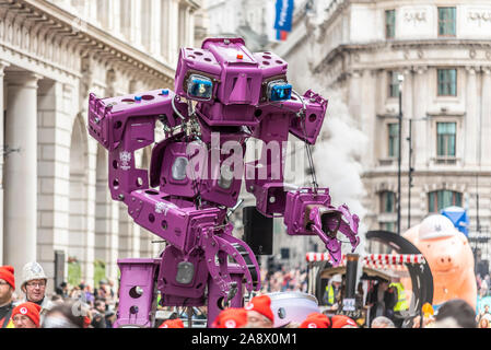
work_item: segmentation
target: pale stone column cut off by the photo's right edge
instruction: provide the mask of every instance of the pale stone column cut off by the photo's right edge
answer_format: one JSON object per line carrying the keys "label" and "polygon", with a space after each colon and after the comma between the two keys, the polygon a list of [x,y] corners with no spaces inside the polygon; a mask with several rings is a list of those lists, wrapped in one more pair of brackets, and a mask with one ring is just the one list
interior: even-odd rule
{"label": "pale stone column cut off by the photo's right edge", "polygon": [[481,156],[482,166],[491,166],[491,67],[482,70],[482,94],[481,94]]}

